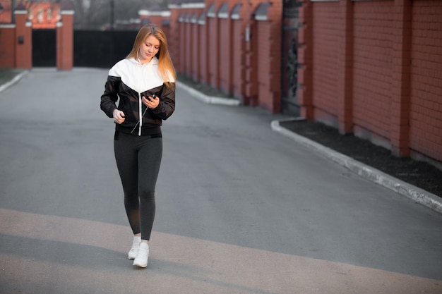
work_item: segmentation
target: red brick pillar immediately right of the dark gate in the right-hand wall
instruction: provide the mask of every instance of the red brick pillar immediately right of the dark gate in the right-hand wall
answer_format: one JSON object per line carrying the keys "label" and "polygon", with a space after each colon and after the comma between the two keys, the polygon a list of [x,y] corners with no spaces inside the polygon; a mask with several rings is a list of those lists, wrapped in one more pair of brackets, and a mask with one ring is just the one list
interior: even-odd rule
{"label": "red brick pillar immediately right of the dark gate in the right-hand wall", "polygon": [[298,83],[297,97],[300,116],[307,120],[313,119],[313,22],[312,5],[308,0],[302,2],[299,8],[299,47],[298,47]]}

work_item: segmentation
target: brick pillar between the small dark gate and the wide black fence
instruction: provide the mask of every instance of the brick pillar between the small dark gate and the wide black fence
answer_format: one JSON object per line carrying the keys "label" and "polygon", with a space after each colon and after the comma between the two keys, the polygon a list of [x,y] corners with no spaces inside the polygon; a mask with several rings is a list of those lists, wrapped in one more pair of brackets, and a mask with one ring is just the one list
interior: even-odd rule
{"label": "brick pillar between the small dark gate and the wide black fence", "polygon": [[56,25],[56,68],[73,68],[73,14],[71,6],[61,7],[61,22]]}

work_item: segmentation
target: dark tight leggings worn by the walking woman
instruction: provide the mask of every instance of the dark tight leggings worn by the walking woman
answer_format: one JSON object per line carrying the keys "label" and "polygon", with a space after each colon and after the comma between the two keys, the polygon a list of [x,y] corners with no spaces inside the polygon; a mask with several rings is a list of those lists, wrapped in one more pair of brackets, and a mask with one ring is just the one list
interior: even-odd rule
{"label": "dark tight leggings worn by the walking woman", "polygon": [[162,138],[116,133],[115,159],[123,184],[124,207],[133,234],[150,240],[155,219],[155,184],[160,171]]}

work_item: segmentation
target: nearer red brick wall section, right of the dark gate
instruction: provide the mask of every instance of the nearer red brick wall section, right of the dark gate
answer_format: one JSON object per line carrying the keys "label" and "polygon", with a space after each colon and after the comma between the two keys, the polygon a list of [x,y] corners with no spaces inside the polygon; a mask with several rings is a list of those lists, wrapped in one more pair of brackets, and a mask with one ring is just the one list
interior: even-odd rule
{"label": "nearer red brick wall section, right of the dark gate", "polygon": [[440,165],[441,16],[438,0],[304,0],[301,115]]}

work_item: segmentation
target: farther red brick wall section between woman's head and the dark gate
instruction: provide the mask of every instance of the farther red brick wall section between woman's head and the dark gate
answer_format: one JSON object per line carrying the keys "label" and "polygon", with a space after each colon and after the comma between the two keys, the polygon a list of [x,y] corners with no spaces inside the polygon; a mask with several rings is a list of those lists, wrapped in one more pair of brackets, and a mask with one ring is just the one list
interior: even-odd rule
{"label": "farther red brick wall section between woman's head and the dark gate", "polygon": [[[205,84],[216,87],[224,92],[235,95],[241,99],[241,102],[246,105],[258,104],[258,83],[257,83],[257,64],[258,64],[258,42],[256,29],[256,22],[253,21],[253,12],[261,3],[262,0],[206,0],[204,8],[190,8],[189,5],[172,4],[169,6],[171,12],[170,37],[169,44],[171,47],[172,60],[178,73],[184,73],[190,77],[197,79]],[[196,0],[196,2],[199,2]],[[212,4],[215,4],[215,16],[208,17],[207,12]],[[218,18],[217,13],[222,4],[228,4],[229,17]],[[232,8],[241,4],[240,19],[232,20],[230,13]],[[277,9],[281,10],[282,3],[275,1],[272,4]],[[192,5],[191,5],[192,6]],[[199,10],[198,10],[199,9]],[[184,17],[186,13],[197,12],[199,16],[205,12],[205,23],[198,24],[198,29],[186,30],[188,23],[186,21],[179,21],[179,17]],[[281,15],[282,11],[273,13],[273,17]],[[277,32],[280,32],[280,19],[271,20],[272,32],[277,27]],[[233,29],[234,23],[237,23]],[[196,25],[195,23],[192,24]],[[246,27],[249,27],[251,35],[253,36],[250,42],[246,42]],[[198,36],[196,36],[198,35]],[[273,42],[271,50],[280,54],[280,34],[275,37],[269,37],[268,41]],[[192,39],[189,41],[189,39]],[[237,40],[237,41],[234,41]],[[190,42],[190,44],[188,43]],[[186,44],[183,46],[183,44]],[[198,44],[196,47],[195,44]],[[236,49],[234,49],[234,47]],[[186,52],[188,52],[186,54]],[[191,54],[190,54],[191,52]],[[273,53],[272,53],[273,54]],[[198,62],[195,59],[198,56]],[[273,56],[267,56],[268,59],[274,59]],[[190,62],[190,63],[189,63]],[[198,64],[198,68],[196,68]],[[272,68],[273,70],[273,68]],[[270,70],[269,70],[270,71]],[[265,85],[273,87],[270,91],[270,99],[280,99],[278,97],[280,72],[268,73],[264,78]],[[238,77],[236,79],[233,76]],[[275,82],[277,81],[277,82]],[[275,90],[277,88],[277,90]],[[279,102],[277,102],[278,104]],[[273,101],[270,104],[275,104]],[[273,107],[273,109],[276,109]]]}

